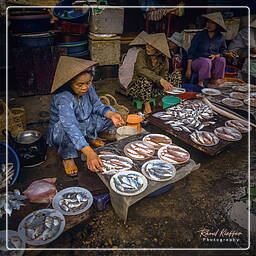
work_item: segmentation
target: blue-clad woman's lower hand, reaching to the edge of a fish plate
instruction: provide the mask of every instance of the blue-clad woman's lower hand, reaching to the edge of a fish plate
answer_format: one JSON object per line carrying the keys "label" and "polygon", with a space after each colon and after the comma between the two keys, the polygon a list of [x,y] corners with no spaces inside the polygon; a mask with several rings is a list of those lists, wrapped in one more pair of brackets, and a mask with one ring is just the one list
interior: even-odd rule
{"label": "blue-clad woman's lower hand, reaching to the edge of a fish plate", "polygon": [[94,150],[90,146],[85,146],[81,151],[86,156],[88,169],[92,172],[101,172],[103,163]]}

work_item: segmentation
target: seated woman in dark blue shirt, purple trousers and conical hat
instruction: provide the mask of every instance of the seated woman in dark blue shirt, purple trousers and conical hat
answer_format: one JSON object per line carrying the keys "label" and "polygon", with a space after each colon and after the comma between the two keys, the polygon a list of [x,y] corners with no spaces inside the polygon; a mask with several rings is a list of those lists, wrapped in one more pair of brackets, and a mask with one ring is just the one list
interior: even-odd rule
{"label": "seated woman in dark blue shirt, purple trousers and conical hat", "polygon": [[202,15],[207,19],[206,29],[198,32],[192,39],[188,50],[186,77],[190,79],[192,71],[198,74],[198,85],[204,86],[206,79],[211,79],[209,87],[218,87],[224,82],[226,59],[235,57],[227,52],[222,31],[226,31],[220,12]]}

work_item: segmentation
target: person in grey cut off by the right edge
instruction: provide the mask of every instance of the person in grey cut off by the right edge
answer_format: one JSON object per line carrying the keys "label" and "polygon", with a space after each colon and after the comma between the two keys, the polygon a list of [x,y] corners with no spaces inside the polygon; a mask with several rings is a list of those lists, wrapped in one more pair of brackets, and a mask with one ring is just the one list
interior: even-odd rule
{"label": "person in grey cut off by the right edge", "polygon": [[[241,29],[234,40],[229,44],[229,50],[235,52],[242,64],[242,73],[247,81],[248,76],[248,28]],[[256,19],[250,23],[250,74],[252,83],[256,83]]]}

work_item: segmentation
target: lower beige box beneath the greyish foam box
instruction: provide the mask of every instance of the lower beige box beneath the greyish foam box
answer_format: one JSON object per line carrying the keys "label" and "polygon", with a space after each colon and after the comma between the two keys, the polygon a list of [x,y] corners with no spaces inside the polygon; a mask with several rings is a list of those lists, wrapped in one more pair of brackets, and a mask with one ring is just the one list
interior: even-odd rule
{"label": "lower beige box beneath the greyish foam box", "polygon": [[120,36],[97,37],[89,34],[89,50],[91,59],[100,66],[118,65],[120,63]]}

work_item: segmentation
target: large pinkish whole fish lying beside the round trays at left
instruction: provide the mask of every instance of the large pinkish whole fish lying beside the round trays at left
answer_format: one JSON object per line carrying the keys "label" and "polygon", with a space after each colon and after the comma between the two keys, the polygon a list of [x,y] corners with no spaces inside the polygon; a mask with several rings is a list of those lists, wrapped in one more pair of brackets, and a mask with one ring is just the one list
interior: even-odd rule
{"label": "large pinkish whole fish lying beside the round trays at left", "polygon": [[31,203],[51,203],[57,193],[54,183],[57,178],[45,178],[33,181],[23,192]]}

